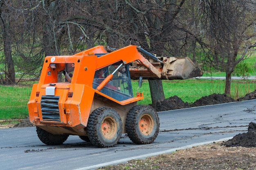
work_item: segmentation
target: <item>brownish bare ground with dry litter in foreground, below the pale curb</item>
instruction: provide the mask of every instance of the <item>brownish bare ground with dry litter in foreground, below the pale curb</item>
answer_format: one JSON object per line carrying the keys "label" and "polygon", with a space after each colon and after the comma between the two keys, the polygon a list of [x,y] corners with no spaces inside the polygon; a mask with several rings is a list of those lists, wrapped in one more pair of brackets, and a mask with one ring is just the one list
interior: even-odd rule
{"label": "brownish bare ground with dry litter in foreground, below the pale curb", "polygon": [[99,170],[255,170],[256,148],[202,145],[171,154],[131,160]]}

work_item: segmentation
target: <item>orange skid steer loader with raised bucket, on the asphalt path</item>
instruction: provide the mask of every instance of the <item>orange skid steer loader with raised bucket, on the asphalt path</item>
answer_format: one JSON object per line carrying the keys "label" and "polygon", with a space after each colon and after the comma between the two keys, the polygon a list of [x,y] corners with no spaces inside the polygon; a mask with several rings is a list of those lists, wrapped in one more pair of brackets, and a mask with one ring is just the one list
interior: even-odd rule
{"label": "orange skid steer loader with raised bucket, on the asphalt path", "polygon": [[[145,56],[145,57],[144,57]],[[30,122],[47,145],[69,135],[98,147],[112,147],[122,133],[150,144],[159,132],[157,112],[137,105],[131,79],[186,79],[202,72],[187,57],[155,57],[140,46],[119,50],[96,46],[72,56],[45,57],[39,82],[28,102]]]}

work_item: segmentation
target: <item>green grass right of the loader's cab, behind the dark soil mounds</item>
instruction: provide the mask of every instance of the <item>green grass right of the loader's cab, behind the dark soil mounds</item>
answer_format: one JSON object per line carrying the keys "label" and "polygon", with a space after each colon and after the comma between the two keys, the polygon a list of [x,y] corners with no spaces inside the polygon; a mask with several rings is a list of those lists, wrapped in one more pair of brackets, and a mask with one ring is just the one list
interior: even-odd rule
{"label": "green grass right of the loader's cab, behind the dark soil mounds", "polygon": [[[178,96],[184,102],[193,103],[202,96],[209,96],[210,94],[224,94],[225,80],[205,80],[205,79],[188,79],[188,80],[173,80],[162,81],[165,98],[171,96]],[[137,81],[132,82],[133,93],[137,92]],[[250,80],[236,80],[231,83],[231,97],[234,99],[245,96],[256,89],[254,81]],[[149,91],[149,84],[144,80],[139,92],[144,93],[144,100],[139,101],[139,104],[151,104],[151,96]]]}

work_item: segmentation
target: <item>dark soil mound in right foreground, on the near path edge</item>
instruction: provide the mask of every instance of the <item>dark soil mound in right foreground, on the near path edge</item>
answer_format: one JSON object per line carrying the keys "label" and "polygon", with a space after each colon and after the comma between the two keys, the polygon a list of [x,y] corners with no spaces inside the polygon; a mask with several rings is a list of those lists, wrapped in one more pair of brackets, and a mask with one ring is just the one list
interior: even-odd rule
{"label": "dark soil mound in right foreground, on the near path edge", "polygon": [[256,124],[254,122],[249,123],[247,133],[239,133],[225,142],[225,146],[242,146],[246,148],[256,147]]}

